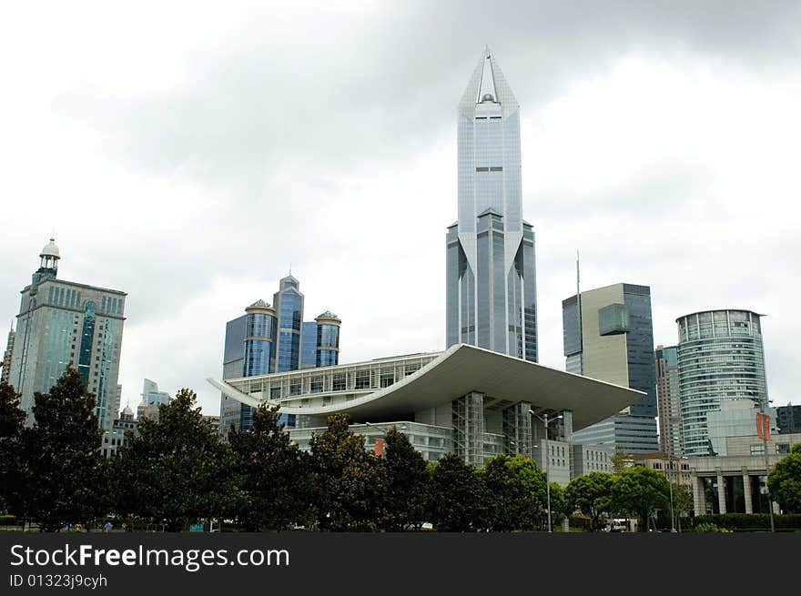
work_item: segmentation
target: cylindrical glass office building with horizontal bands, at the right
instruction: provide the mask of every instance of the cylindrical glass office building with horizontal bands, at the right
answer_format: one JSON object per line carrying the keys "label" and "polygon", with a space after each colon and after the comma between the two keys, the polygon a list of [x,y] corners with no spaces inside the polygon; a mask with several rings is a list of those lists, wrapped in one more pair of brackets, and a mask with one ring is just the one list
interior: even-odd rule
{"label": "cylindrical glass office building with horizontal bands, at the right", "polygon": [[[729,433],[741,432],[733,416],[745,423],[754,413],[748,410],[768,407],[760,317],[750,310],[721,309],[676,319],[684,455],[715,454]],[[714,414],[733,400],[747,401]]]}

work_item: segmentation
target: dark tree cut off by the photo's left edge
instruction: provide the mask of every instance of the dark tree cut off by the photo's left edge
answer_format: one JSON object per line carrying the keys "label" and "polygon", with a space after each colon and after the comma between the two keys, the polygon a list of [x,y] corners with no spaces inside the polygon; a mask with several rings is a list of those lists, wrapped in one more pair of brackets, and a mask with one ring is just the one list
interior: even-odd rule
{"label": "dark tree cut off by the photo's left edge", "polygon": [[19,399],[11,385],[0,383],[0,510],[25,517],[25,489],[30,482],[22,447],[25,412],[19,409]]}

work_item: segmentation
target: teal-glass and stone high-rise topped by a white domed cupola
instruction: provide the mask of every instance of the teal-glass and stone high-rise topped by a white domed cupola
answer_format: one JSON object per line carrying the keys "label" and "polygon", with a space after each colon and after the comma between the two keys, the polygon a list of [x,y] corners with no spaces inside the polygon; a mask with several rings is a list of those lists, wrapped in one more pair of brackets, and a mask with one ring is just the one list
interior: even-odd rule
{"label": "teal-glass and stone high-rise topped by a white domed cupola", "polygon": [[60,254],[53,238],[39,257],[31,284],[22,290],[9,382],[30,413],[34,393],[49,391],[72,366],[96,395],[100,427],[111,429],[119,411],[126,294],[57,278]]}

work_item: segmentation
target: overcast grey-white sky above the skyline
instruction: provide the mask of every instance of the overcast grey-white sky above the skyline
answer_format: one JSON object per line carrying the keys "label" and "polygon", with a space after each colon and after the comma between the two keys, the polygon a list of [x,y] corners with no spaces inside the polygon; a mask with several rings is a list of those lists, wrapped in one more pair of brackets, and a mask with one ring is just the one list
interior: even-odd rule
{"label": "overcast grey-white sky above the skyline", "polygon": [[[225,323],[299,278],[340,362],[444,349],[456,105],[485,44],[521,105],[541,362],[561,302],[651,287],[654,342],[765,313],[801,401],[798,2],[17,2],[0,16],[0,318],[59,278],[127,292],[120,382],[219,394]],[[2,320],[2,319],[0,319]],[[4,333],[5,346],[5,333]]]}

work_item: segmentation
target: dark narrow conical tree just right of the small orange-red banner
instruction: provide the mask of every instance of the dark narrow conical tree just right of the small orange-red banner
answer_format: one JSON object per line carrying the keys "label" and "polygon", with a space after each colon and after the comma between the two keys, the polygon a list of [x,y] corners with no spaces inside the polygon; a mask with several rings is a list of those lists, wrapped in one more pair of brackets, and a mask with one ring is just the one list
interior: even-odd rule
{"label": "dark narrow conical tree just right of the small orange-red banner", "polygon": [[385,530],[420,530],[428,514],[431,475],[420,451],[394,426],[387,432],[384,457],[386,473],[384,502]]}

